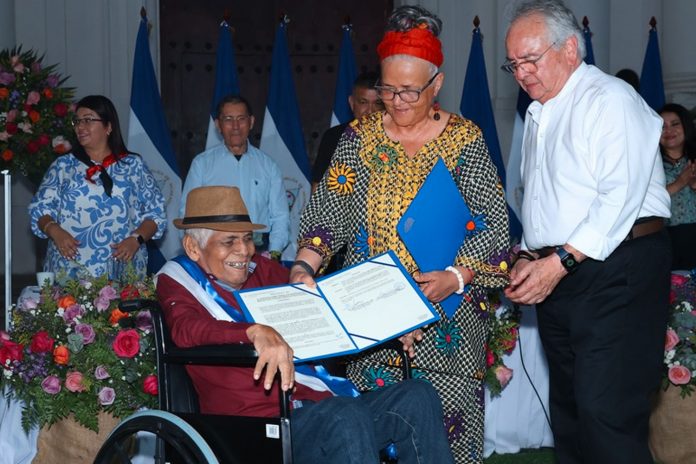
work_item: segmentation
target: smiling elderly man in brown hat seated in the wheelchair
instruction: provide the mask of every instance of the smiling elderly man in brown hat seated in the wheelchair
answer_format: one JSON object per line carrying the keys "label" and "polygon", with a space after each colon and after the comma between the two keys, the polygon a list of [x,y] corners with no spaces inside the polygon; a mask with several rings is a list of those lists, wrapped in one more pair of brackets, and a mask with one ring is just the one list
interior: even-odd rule
{"label": "smiling elderly man in brown hat seated in the wheelchair", "polygon": [[[251,222],[237,188],[192,190],[185,216],[174,220],[185,231],[185,256],[168,262],[157,279],[172,341],[178,347],[250,343],[258,353],[255,366],[186,366],[201,413],[277,416],[280,389],[291,394],[296,463],[378,463],[390,443],[400,464],[453,462],[442,406],[429,383],[405,380],[358,395],[347,380],[320,368],[300,374],[278,332],[245,322],[232,292],[285,284],[288,270],[255,254],[252,232],[264,226]],[[416,337],[400,339],[411,355]]]}

